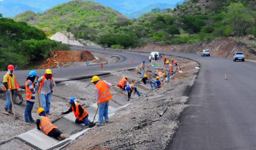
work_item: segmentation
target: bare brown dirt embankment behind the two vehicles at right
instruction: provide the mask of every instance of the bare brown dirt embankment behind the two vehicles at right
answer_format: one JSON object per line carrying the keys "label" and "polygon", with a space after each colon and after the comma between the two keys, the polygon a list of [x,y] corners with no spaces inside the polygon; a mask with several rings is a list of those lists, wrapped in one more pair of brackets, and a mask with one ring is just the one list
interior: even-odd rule
{"label": "bare brown dirt embankment behind the two vehicles at right", "polygon": [[187,52],[200,54],[203,49],[209,49],[212,56],[232,58],[235,52],[244,52],[245,59],[256,60],[256,49],[233,38],[217,38],[215,40],[199,41],[195,43],[163,45],[149,43],[138,47],[140,50],[158,50],[172,52]]}

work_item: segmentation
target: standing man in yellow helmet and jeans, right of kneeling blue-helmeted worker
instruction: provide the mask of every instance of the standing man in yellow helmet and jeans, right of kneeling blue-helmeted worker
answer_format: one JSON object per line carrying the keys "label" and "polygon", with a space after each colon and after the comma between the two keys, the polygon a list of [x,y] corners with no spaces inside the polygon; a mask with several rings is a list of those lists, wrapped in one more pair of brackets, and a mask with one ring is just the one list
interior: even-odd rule
{"label": "standing man in yellow helmet and jeans, right of kneeling blue-helmeted worker", "polygon": [[113,98],[110,89],[112,87],[112,84],[106,82],[106,81],[99,81],[98,76],[93,76],[92,81],[93,84],[95,84],[95,94],[96,94],[96,101],[99,106],[99,124],[97,126],[103,126],[105,118],[105,122],[109,122],[108,118],[108,106],[109,106],[109,100]]}

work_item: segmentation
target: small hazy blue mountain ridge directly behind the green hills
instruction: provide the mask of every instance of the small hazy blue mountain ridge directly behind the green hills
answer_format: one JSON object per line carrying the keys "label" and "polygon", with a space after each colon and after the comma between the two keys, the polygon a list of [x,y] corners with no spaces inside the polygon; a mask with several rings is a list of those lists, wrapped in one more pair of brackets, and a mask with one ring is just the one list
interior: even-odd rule
{"label": "small hazy blue mountain ridge directly behind the green hills", "polygon": [[164,9],[174,9],[175,7],[176,7],[176,5],[172,5],[172,4],[155,3],[155,4],[145,7],[143,9],[140,9],[136,12],[124,13],[124,15],[129,18],[138,18],[138,17],[140,17],[141,14],[144,14],[146,12],[151,12],[152,9],[160,9],[161,11],[163,11]]}

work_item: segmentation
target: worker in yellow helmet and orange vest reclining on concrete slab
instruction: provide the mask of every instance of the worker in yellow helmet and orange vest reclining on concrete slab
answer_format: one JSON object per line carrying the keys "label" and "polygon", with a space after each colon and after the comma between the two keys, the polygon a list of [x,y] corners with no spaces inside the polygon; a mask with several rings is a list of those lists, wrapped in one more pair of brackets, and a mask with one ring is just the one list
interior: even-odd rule
{"label": "worker in yellow helmet and orange vest reclining on concrete slab", "polygon": [[61,133],[61,131],[58,130],[58,127],[51,123],[51,120],[46,116],[44,108],[38,108],[38,115],[39,117],[36,119],[36,126],[38,130],[42,129],[47,136],[54,137],[58,140],[70,137],[68,134]]}

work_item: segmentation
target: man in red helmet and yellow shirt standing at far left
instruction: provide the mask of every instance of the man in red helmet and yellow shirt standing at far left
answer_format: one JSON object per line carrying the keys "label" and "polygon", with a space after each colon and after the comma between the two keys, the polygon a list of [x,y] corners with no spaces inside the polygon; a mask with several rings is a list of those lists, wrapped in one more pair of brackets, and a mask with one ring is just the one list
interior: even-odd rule
{"label": "man in red helmet and yellow shirt standing at far left", "polygon": [[16,81],[15,75],[13,74],[14,66],[9,65],[7,67],[8,72],[3,76],[3,89],[6,92],[6,104],[4,106],[3,113],[6,115],[13,114],[12,112],[12,103],[11,103],[11,96],[12,98],[15,97],[15,89],[20,88],[19,84]]}

